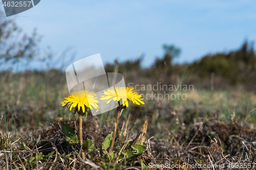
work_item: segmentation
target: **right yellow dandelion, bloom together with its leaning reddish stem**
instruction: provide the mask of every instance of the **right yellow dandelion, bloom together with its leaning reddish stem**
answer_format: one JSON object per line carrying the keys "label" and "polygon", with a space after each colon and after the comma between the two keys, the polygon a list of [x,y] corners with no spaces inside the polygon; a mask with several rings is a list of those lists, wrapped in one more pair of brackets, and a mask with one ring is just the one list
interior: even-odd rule
{"label": "right yellow dandelion, bloom together with its leaning reddish stem", "polygon": [[[109,100],[106,104],[110,103],[112,100],[117,101],[119,104],[119,106],[116,108],[117,117],[114,124],[114,132],[109,153],[113,152],[121,110],[129,106],[128,101],[131,101],[136,105],[144,104],[144,99],[141,97],[142,95],[138,94],[138,92],[133,87],[115,87],[115,89],[108,89],[108,91],[104,91],[104,93],[102,93],[100,100]],[[122,104],[120,104],[121,101]]]}

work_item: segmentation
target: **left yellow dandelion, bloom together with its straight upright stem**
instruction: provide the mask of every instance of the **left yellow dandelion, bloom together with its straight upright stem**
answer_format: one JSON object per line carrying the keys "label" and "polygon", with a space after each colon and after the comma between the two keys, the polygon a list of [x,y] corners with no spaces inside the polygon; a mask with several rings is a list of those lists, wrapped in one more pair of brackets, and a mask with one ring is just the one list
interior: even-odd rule
{"label": "left yellow dandelion, bloom together with its straight upright stem", "polygon": [[[69,109],[73,112],[78,113],[79,115],[79,142],[82,147],[82,116],[86,115],[89,112],[89,109],[98,109],[99,106],[97,105],[99,101],[97,101],[96,94],[92,91],[75,91],[72,92],[70,96],[65,98],[65,101],[61,102],[62,106],[69,105]],[[72,137],[71,137],[72,138]],[[85,159],[84,152],[81,152],[82,159]]]}

